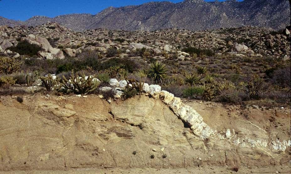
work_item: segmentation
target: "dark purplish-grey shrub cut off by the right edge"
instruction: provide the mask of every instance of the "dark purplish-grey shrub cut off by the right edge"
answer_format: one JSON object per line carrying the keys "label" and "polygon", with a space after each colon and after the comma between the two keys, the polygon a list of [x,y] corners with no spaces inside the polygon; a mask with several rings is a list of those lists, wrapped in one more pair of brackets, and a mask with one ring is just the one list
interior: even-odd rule
{"label": "dark purplish-grey shrub cut off by the right edge", "polygon": [[290,67],[280,68],[273,72],[271,83],[280,87],[291,87]]}

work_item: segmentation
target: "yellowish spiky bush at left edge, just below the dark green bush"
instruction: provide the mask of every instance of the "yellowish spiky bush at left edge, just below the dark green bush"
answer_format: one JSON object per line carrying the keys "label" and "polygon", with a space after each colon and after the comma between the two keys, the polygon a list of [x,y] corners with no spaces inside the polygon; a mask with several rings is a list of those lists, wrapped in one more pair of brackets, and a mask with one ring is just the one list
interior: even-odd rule
{"label": "yellowish spiky bush at left edge, just below the dark green bush", "polygon": [[11,74],[19,70],[22,61],[9,57],[0,57],[0,73]]}

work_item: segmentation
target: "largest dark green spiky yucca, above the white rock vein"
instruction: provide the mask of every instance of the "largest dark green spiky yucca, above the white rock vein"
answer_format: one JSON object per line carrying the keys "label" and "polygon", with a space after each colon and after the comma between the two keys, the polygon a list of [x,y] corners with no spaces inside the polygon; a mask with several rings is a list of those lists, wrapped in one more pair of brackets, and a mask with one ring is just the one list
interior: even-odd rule
{"label": "largest dark green spiky yucca, above the white rock vein", "polygon": [[151,63],[148,76],[152,78],[155,82],[160,82],[166,78],[167,68],[165,64],[155,61]]}

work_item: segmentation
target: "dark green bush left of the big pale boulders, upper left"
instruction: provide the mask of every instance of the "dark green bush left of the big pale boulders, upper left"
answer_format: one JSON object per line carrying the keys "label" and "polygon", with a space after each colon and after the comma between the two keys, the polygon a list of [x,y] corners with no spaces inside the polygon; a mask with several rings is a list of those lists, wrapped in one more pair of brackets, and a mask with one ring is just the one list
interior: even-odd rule
{"label": "dark green bush left of the big pale boulders, upper left", "polygon": [[20,55],[37,55],[43,49],[36,44],[30,44],[27,40],[20,41],[16,46],[10,47],[9,50],[17,52]]}

